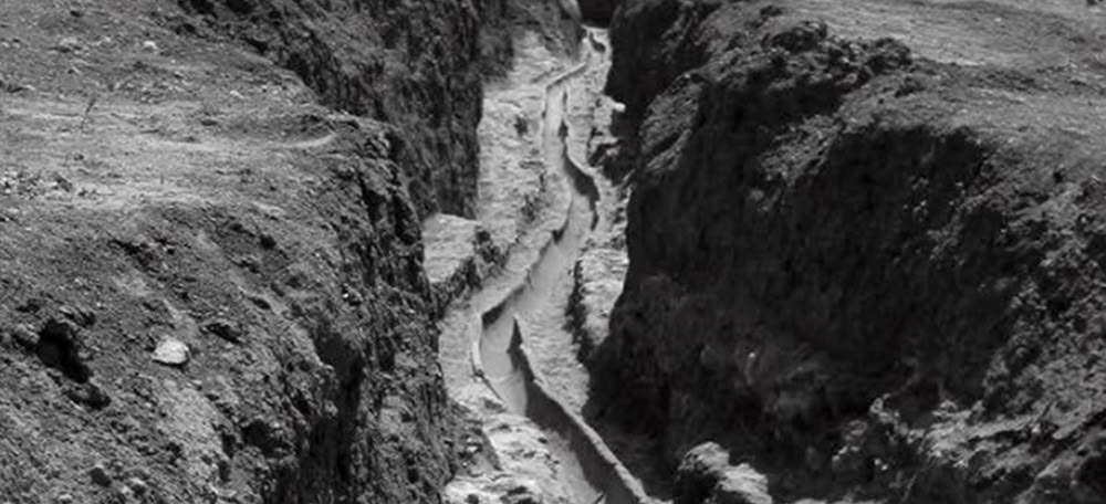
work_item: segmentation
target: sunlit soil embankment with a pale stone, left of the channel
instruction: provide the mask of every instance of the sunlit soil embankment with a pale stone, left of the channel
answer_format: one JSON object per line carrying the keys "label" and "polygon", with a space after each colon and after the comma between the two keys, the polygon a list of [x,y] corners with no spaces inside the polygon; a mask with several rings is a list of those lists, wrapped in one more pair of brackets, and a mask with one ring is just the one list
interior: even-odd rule
{"label": "sunlit soil embankment with a pale stone, left of the channel", "polygon": [[0,2],[3,498],[439,501],[420,223],[513,23],[576,30],[515,3]]}

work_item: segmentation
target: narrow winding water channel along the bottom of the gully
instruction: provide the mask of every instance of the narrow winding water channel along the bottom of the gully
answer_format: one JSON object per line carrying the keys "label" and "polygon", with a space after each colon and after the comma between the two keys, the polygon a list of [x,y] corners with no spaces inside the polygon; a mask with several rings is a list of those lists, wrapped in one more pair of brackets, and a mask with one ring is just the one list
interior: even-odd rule
{"label": "narrow winding water channel along the bottom of the gully", "polygon": [[[571,339],[564,324],[564,285],[571,284],[572,267],[588,233],[598,222],[598,189],[589,175],[570,159],[566,108],[570,82],[587,67],[585,63],[560,75],[546,87],[542,117],[545,162],[560,169],[571,191],[567,214],[544,244],[524,280],[490,309],[481,314],[482,332],[478,361],[486,381],[507,408],[525,416],[550,437],[559,459],[561,482],[575,503],[639,503],[646,501],[640,485],[622,466],[603,440],[555,392],[535,377],[523,350],[525,337]],[[565,300],[559,300],[564,296]],[[532,321],[523,326],[519,321]],[[532,330],[531,330],[532,329]],[[526,333],[530,334],[526,334]],[[551,336],[551,333],[560,332]]]}

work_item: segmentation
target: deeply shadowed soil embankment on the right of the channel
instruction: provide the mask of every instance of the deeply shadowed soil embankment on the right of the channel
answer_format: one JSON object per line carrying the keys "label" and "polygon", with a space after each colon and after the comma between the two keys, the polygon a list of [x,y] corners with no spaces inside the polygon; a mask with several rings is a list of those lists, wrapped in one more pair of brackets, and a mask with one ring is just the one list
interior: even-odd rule
{"label": "deeply shadowed soil embankment on the right of the channel", "polygon": [[630,264],[599,410],[674,464],[720,442],[778,500],[1106,502],[1102,25],[625,2]]}

